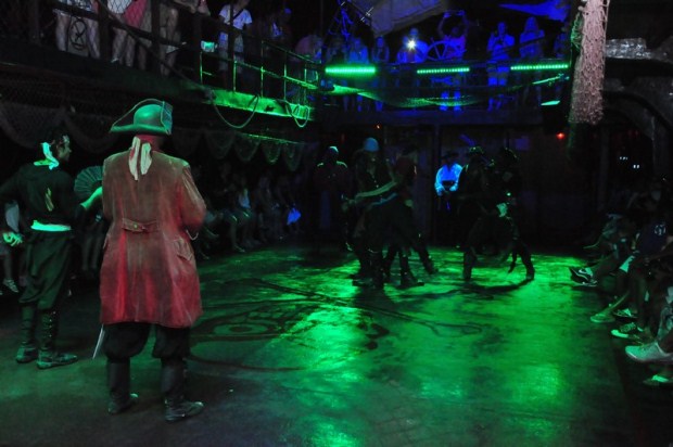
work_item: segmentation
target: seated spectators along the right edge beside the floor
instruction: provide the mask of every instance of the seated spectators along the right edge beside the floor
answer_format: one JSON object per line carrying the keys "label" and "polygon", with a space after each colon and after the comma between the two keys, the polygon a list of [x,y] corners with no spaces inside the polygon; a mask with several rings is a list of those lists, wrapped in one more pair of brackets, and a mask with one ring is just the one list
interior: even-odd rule
{"label": "seated spectators along the right edge beside the floor", "polygon": [[673,188],[666,178],[620,190],[571,280],[610,297],[591,321],[617,325],[628,358],[659,366],[647,385],[673,384]]}

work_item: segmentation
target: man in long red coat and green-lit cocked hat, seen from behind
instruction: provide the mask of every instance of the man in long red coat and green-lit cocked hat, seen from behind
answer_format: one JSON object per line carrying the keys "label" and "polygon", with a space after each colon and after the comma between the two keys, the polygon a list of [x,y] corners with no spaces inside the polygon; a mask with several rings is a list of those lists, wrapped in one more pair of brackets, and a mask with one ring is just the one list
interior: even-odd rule
{"label": "man in long red coat and green-lit cocked hat, seen from behind", "polygon": [[111,132],[135,135],[128,151],[103,165],[103,215],[110,220],[101,267],[101,322],[107,357],[107,411],[138,399],[130,393],[130,357],[155,327],[152,356],[162,361],[161,388],[168,422],[199,414],[200,401],[183,397],[190,327],[202,315],[199,276],[190,239],[205,204],[187,162],[161,148],[173,127],[173,107],[144,100]]}

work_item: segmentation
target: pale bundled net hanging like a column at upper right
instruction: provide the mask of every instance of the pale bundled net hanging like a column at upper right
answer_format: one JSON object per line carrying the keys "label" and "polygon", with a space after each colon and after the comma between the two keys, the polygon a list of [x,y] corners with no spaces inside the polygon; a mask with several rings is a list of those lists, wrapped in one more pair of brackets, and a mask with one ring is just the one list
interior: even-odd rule
{"label": "pale bundled net hanging like a column at upper right", "polygon": [[569,122],[596,125],[602,118],[605,44],[610,0],[587,0],[580,7],[573,41],[581,51],[575,62]]}

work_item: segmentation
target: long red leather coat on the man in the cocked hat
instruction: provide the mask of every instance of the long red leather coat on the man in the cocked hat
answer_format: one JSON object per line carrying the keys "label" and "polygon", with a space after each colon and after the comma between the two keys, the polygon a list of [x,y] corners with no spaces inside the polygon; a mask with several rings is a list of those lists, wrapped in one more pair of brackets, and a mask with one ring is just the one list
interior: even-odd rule
{"label": "long red leather coat on the man in the cocked hat", "polygon": [[[111,222],[101,267],[101,322],[188,328],[201,316],[201,292],[189,234],[205,204],[187,162],[152,151],[135,180],[129,151],[103,165],[103,214]],[[189,231],[189,234],[188,234]]]}

